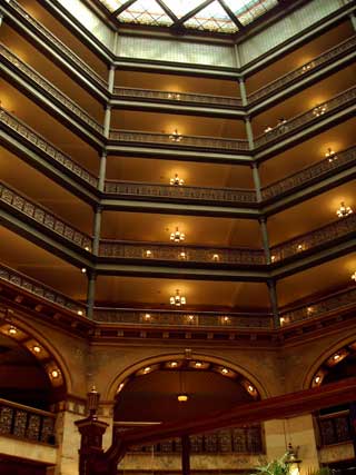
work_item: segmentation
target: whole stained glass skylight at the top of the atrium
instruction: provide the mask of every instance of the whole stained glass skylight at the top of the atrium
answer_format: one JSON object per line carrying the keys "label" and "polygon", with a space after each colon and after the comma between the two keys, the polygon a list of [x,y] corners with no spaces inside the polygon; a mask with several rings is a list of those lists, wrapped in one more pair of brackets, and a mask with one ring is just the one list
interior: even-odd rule
{"label": "whole stained glass skylight at the top of the atrium", "polygon": [[[95,0],[120,23],[236,33],[278,0]],[[201,8],[202,7],[202,8]],[[182,21],[181,21],[182,20]]]}

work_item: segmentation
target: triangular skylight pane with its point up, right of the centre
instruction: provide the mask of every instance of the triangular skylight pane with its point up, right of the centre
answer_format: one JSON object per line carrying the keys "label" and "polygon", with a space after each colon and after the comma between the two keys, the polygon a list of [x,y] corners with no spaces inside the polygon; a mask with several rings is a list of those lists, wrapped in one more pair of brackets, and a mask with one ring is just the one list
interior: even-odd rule
{"label": "triangular skylight pane with its point up, right of the centre", "polygon": [[218,31],[222,33],[236,33],[237,26],[226,13],[219,2],[214,1],[197,14],[185,21],[186,28],[196,30]]}

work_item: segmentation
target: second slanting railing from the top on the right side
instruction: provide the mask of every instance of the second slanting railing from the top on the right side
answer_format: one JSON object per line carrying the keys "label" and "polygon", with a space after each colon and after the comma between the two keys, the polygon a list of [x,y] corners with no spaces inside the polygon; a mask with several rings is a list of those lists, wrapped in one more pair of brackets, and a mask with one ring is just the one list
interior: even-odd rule
{"label": "second slanting railing from the top on the right side", "polygon": [[299,113],[280,126],[275,127],[268,132],[257,137],[255,139],[255,148],[263,147],[266,144],[279,139],[289,132],[301,129],[303,127],[317,122],[320,118],[328,116],[336,109],[343,108],[343,106],[352,105],[356,99],[356,87],[350,88],[333,99],[319,103],[307,112]]}

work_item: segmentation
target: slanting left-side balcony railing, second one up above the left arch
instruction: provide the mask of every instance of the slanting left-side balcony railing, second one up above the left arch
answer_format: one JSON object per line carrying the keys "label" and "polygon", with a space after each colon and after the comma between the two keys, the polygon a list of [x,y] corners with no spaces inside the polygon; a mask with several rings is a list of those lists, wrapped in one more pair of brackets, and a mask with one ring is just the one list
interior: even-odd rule
{"label": "slanting left-side balcony railing, second one up above the left arch", "polygon": [[61,218],[57,217],[53,212],[48,211],[46,208],[33,204],[19,191],[10,188],[9,186],[0,182],[0,201],[11,206],[13,210],[20,211],[28,218],[33,219],[36,222],[51,229],[65,239],[70,240],[72,244],[81,247],[82,249],[91,249],[91,238],[72,226],[65,222]]}

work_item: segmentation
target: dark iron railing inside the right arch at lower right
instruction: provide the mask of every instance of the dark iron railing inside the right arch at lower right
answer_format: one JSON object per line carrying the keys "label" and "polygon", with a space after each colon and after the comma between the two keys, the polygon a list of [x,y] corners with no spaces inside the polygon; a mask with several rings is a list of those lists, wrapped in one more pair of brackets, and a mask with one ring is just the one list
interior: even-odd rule
{"label": "dark iron railing inside the right arch at lower right", "polygon": [[353,442],[354,431],[348,410],[319,415],[317,422],[322,446]]}

